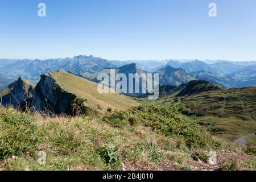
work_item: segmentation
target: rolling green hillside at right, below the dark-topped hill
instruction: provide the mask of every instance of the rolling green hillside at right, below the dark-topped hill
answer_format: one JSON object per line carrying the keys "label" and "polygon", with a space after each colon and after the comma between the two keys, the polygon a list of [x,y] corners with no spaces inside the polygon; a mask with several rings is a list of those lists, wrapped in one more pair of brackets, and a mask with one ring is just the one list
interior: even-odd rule
{"label": "rolling green hillside at right, below the dark-topped hill", "polygon": [[[170,105],[172,101],[184,104],[189,118],[207,126],[215,133],[236,139],[256,130],[256,88],[220,89],[176,97],[179,91],[154,101]],[[147,98],[135,101],[149,103]]]}

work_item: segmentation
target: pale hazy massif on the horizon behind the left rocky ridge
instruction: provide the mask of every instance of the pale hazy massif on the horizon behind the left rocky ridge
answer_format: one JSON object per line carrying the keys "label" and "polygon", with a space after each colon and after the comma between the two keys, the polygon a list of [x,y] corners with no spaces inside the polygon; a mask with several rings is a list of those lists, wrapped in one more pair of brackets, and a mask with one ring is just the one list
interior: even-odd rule
{"label": "pale hazy massif on the horizon behind the left rocky ridge", "polygon": [[[4,66],[1,68],[2,73],[11,77],[22,77],[32,82],[38,82],[42,73],[49,71],[57,71],[63,69],[64,71],[75,70],[78,73],[98,72],[104,68],[116,68],[117,65],[111,61],[101,59],[100,57],[93,56],[75,56],[73,58],[65,59],[48,59],[48,60],[0,60]],[[9,64],[6,64],[9,63]]]}

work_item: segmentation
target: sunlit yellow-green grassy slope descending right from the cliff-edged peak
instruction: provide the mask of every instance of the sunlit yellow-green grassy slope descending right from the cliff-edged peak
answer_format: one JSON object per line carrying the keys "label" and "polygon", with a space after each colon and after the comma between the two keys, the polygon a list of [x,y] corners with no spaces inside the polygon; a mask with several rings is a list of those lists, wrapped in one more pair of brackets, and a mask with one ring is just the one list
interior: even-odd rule
{"label": "sunlit yellow-green grassy slope descending right from the cliff-edged peak", "polygon": [[64,90],[76,94],[77,97],[85,98],[87,100],[86,105],[92,108],[97,108],[97,105],[100,105],[104,110],[108,107],[112,107],[112,109],[127,109],[138,105],[137,102],[130,100],[129,97],[118,93],[100,94],[97,92],[98,84],[67,72],[51,72],[51,76],[55,78],[57,84],[61,85]]}

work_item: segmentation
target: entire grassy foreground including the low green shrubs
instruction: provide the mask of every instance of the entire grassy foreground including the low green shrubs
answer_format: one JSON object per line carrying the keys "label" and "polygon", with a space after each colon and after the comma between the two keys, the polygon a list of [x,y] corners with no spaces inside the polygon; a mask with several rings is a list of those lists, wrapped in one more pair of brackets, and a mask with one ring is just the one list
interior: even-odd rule
{"label": "entire grassy foreground including the low green shrubs", "polygon": [[[64,118],[0,108],[0,170],[193,170],[209,150],[241,154],[181,117],[181,109],[152,104]],[[46,152],[45,165],[38,163],[39,151]],[[223,159],[218,168],[255,170],[254,157],[241,155],[242,161]]]}

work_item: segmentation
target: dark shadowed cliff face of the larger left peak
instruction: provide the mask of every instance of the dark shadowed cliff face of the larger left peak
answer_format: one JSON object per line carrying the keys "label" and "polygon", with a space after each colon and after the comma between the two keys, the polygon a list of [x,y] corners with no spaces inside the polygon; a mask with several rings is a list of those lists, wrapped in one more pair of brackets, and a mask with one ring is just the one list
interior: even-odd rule
{"label": "dark shadowed cliff face of the larger left peak", "polygon": [[55,78],[43,74],[36,85],[32,106],[36,111],[47,111],[54,114],[69,113],[75,94],[61,88]]}

